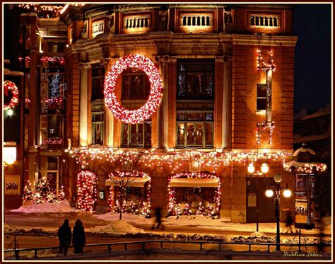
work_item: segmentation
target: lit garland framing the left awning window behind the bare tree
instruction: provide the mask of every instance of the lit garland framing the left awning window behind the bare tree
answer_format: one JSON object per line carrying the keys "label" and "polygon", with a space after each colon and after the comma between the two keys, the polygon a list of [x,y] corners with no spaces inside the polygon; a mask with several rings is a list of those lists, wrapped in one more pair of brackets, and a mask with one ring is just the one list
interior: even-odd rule
{"label": "lit garland framing the left awning window behind the bare tree", "polygon": [[[122,213],[129,212],[131,214],[143,214],[148,215],[150,214],[150,207],[151,207],[151,177],[148,176],[148,174],[144,173],[143,171],[114,171],[114,173],[109,174],[110,178],[118,177],[118,178],[144,178],[147,177],[148,184],[146,184],[146,201],[144,201],[141,205],[136,206],[134,202],[131,202],[131,205],[127,207],[126,200],[123,201],[122,205]],[[127,188],[130,186],[124,186],[124,188]],[[110,197],[108,198],[108,209],[110,212],[119,212],[121,210],[121,207],[119,205],[119,200],[117,199],[114,202],[114,188],[110,186]],[[120,193],[119,193],[120,197]]]}

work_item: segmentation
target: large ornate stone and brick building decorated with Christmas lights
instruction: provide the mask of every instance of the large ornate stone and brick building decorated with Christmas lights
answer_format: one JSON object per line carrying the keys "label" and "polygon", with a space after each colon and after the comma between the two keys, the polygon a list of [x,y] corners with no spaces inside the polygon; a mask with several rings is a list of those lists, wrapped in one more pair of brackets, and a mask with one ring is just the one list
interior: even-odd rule
{"label": "large ornate stone and brick building decorated with Christmas lights", "polygon": [[[48,176],[76,205],[78,171],[90,169],[96,195],[106,196],[93,210],[107,212],[110,189],[117,189],[109,173],[122,170],[111,157],[137,151],[144,162],[136,171],[150,178],[151,208],[171,213],[173,193],[182,211],[218,206],[221,217],[255,222],[259,208],[260,222],[275,221],[264,190],[276,174],[294,187],[282,167],[293,152],[293,6],[77,4],[58,16],[22,13],[20,23],[22,57],[29,57],[24,180]],[[151,59],[163,84],[158,109],[136,124],[121,122],[104,103],[105,76],[129,54]],[[146,103],[150,77],[129,67],[119,74],[122,107]],[[259,173],[257,188],[262,163],[269,172]],[[127,195],[143,196],[148,184],[134,184]],[[293,198],[281,207],[293,208]]]}

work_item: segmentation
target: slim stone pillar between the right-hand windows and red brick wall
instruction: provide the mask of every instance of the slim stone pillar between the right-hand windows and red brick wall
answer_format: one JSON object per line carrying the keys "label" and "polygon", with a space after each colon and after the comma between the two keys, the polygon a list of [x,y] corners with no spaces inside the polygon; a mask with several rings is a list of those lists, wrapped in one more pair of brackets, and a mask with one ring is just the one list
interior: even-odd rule
{"label": "slim stone pillar between the right-hand windows and red brick wall", "polygon": [[232,143],[232,58],[225,56],[223,71],[223,112],[222,112],[222,147],[230,148]]}

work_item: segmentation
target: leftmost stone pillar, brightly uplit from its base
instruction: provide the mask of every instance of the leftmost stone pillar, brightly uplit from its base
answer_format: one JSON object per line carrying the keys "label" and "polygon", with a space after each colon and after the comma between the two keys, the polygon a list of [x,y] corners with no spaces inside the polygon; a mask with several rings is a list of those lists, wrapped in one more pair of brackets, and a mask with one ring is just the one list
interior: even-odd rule
{"label": "leftmost stone pillar, brightly uplit from its base", "polygon": [[81,64],[81,88],[79,103],[79,146],[88,145],[88,68],[90,64]]}

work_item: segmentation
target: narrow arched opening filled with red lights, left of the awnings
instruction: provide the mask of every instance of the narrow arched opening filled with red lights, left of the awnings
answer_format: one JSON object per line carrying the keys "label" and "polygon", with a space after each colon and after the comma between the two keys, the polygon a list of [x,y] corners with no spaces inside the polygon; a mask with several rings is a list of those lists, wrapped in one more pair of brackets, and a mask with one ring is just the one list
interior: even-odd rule
{"label": "narrow arched opening filled with red lights, left of the awnings", "polygon": [[77,175],[78,210],[93,212],[97,201],[97,176],[93,171],[81,170]]}

